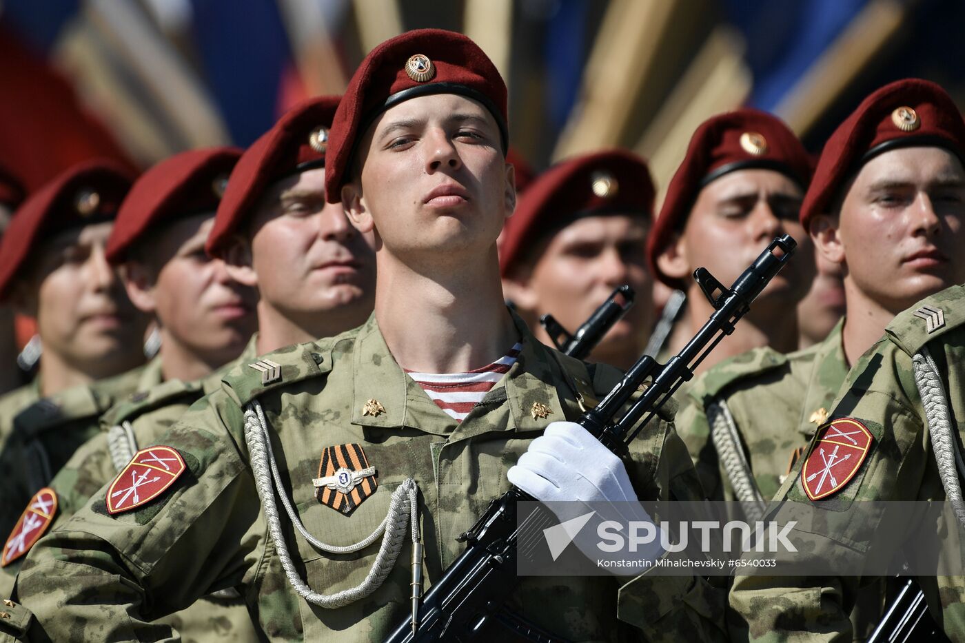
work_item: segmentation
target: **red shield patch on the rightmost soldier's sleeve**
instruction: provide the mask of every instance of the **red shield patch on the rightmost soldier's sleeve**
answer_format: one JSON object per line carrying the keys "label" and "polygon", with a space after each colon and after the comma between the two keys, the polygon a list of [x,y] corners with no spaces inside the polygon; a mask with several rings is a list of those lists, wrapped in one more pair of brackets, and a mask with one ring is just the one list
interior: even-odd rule
{"label": "red shield patch on the rightmost soldier's sleeve", "polygon": [[868,456],[874,436],[858,420],[841,418],[826,426],[801,469],[801,485],[812,500],[837,493]]}

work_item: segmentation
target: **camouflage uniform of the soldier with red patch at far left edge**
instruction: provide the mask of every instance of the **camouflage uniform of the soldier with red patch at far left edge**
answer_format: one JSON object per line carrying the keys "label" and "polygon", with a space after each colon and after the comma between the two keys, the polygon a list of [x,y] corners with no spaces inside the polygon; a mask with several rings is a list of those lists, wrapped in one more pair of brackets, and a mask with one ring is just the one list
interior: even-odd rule
{"label": "camouflage uniform of the soldier with red patch at far left edge", "polygon": [[[110,483],[138,448],[155,444],[190,405],[219,388],[224,373],[242,360],[251,361],[257,352],[256,342],[257,335],[234,362],[202,380],[172,379],[151,386],[154,379],[160,379],[160,367],[157,360],[149,364],[138,390],[101,416],[101,432],[77,449],[47,485],[56,491],[58,499],[57,514],[48,531],[73,516],[92,495]],[[133,444],[128,443],[128,434],[133,436]],[[0,569],[0,595],[11,596],[14,578],[22,563],[20,558]],[[234,595],[206,597],[165,617],[163,622],[177,629],[184,641],[217,637],[232,641],[259,640],[248,610],[236,593]]]}

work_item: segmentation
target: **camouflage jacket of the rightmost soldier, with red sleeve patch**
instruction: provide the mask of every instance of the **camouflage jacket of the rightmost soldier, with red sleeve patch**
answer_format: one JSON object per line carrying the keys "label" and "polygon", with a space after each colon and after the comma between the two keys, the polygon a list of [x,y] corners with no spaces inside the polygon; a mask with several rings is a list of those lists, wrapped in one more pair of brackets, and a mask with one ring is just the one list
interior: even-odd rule
{"label": "camouflage jacket of the rightmost soldier, with red sleeve patch", "polygon": [[[919,313],[922,306],[941,310],[944,323],[923,319]],[[862,501],[946,499],[936,466],[933,429],[929,429],[912,365],[913,356],[923,349],[934,359],[951,406],[948,408],[951,447],[961,448],[960,418],[965,417],[965,388],[961,385],[965,376],[965,288],[953,286],[898,315],[888,325],[884,337],[859,359],[832,406],[828,422],[822,424],[808,452],[775,495],[768,519],[786,522],[787,512],[793,511],[794,505],[785,501],[805,508],[819,506],[828,512],[853,513],[868,506]],[[831,433],[835,423],[844,419],[857,420],[870,433],[867,451],[852,474],[842,477],[840,482],[831,482],[822,493],[815,493],[813,481],[802,480],[810,478],[803,476],[802,470],[808,466],[812,454],[817,461],[818,446],[823,446],[822,441],[827,439],[825,433],[836,434]],[[848,423],[838,426],[845,424]],[[854,455],[854,450],[849,453]],[[951,454],[948,457],[951,458]],[[811,500],[803,487],[805,484],[811,485],[811,495],[820,499]],[[826,495],[822,495],[824,493]],[[887,560],[892,556],[892,549],[883,550],[885,545],[876,533],[884,528],[880,519],[869,519],[869,512],[847,518],[848,514],[841,515],[838,520],[841,528],[834,530],[827,528],[827,522],[796,526],[791,537],[802,538],[812,545],[797,555],[806,556],[805,563],[834,560],[835,555],[843,555],[841,552],[868,555],[873,550],[879,558]],[[899,521],[896,530],[888,529],[888,542],[893,548],[897,546],[894,543],[908,542],[909,550],[914,549],[916,537],[902,534],[912,534],[921,526],[906,517]],[[963,525],[958,525],[959,535],[962,528]],[[953,532],[954,526],[950,529]],[[951,533],[938,547],[939,573],[942,569],[955,570],[955,565],[961,566],[960,543],[947,545],[954,540]],[[787,640],[811,632],[814,640],[847,640],[851,630],[847,615],[856,590],[873,580],[859,576],[737,576],[730,597],[732,635],[741,640]],[[960,576],[938,575],[919,576],[919,581],[936,623],[953,640],[965,637],[965,580]]]}

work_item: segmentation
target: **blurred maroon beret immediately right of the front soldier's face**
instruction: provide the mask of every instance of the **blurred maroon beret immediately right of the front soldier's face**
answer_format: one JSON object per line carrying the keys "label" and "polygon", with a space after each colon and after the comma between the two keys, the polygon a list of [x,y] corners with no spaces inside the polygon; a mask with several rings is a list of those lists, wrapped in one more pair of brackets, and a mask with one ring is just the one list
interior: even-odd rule
{"label": "blurred maroon beret immediately right of the front soldier's face", "polygon": [[530,184],[507,219],[500,272],[506,276],[534,241],[578,218],[631,214],[649,221],[653,192],[647,162],[624,150],[585,154],[554,165]]}

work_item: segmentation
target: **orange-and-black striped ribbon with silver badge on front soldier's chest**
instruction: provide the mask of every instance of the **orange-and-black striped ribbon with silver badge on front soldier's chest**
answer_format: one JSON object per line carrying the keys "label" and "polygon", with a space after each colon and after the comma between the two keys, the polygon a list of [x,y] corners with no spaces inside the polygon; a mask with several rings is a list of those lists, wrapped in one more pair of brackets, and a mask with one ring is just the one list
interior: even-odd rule
{"label": "orange-and-black striped ribbon with silver badge on front soldier's chest", "polygon": [[339,444],[325,449],[312,481],[315,497],[323,505],[348,516],[378,486],[375,467],[358,444]]}

